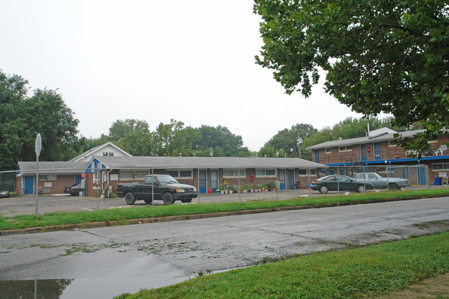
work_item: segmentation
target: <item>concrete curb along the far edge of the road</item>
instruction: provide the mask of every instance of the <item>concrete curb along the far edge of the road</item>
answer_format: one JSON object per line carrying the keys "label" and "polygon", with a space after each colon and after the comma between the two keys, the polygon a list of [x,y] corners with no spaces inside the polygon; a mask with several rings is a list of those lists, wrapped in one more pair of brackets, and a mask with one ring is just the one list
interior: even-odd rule
{"label": "concrete curb along the far edge of the road", "polygon": [[137,219],[128,219],[128,220],[112,220],[112,221],[88,222],[88,223],[79,223],[79,224],[48,225],[48,226],[30,227],[28,229],[9,229],[9,230],[5,230],[5,231],[0,231],[0,235],[15,235],[15,234],[23,234],[23,233],[42,233],[42,232],[48,232],[48,231],[68,231],[68,230],[76,230],[76,229],[93,229],[96,227],[106,227],[106,226],[119,226],[119,225],[128,225],[128,224],[144,224],[144,223],[153,223],[153,222],[192,220],[192,219],[200,219],[200,218],[216,218],[216,217],[249,215],[249,214],[256,214],[256,213],[269,213],[269,212],[279,212],[279,211],[319,209],[319,208],[329,208],[332,206],[350,206],[350,205],[354,205],[354,204],[374,204],[374,203],[380,203],[380,202],[399,202],[401,200],[421,200],[421,199],[426,199],[426,198],[436,198],[436,197],[446,197],[446,196],[449,196],[449,194],[385,198],[385,199],[377,199],[377,200],[334,202],[334,203],[330,203],[330,204],[310,204],[307,206],[280,206],[278,208],[267,208],[267,209],[256,209],[256,210],[228,211],[228,212],[191,214],[191,215],[175,215],[175,216],[152,217],[152,218],[137,218]]}

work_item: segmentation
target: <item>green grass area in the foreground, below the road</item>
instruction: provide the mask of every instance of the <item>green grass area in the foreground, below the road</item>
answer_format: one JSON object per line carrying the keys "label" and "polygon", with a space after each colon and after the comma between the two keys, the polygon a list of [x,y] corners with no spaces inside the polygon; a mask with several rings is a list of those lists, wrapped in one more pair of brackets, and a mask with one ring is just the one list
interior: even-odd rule
{"label": "green grass area in the foreground, below the road", "polygon": [[449,232],[345,251],[301,255],[201,276],[115,299],[367,298],[449,271]]}

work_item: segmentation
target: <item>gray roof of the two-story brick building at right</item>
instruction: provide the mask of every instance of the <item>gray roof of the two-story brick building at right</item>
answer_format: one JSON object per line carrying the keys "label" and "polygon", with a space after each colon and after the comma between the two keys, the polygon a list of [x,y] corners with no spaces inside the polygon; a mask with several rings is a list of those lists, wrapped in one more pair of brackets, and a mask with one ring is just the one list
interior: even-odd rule
{"label": "gray roof of the two-story brick building at right", "polygon": [[[402,139],[405,137],[412,137],[416,133],[420,133],[420,132],[423,132],[423,130],[405,131],[405,132],[399,132],[398,134]],[[335,146],[350,146],[350,145],[354,145],[354,144],[370,144],[373,142],[385,142],[385,141],[394,140],[394,139],[395,139],[394,133],[381,133],[379,135],[371,135],[370,137],[365,136],[365,137],[323,142],[321,144],[309,146],[307,148],[307,150],[316,150],[316,149],[320,149],[320,148],[332,148]]]}

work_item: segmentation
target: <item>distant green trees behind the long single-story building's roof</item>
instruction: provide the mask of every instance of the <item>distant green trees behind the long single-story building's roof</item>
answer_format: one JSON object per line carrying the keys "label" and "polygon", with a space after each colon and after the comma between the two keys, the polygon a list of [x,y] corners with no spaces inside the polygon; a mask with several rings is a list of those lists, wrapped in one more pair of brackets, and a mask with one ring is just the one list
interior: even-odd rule
{"label": "distant green trees behind the long single-story building's roof", "polygon": [[79,142],[82,152],[105,142],[114,142],[136,156],[209,156],[211,148],[216,157],[251,155],[248,148],[242,146],[242,137],[234,135],[225,126],[192,128],[175,119],[169,124],[161,122],[154,131],[150,131],[144,120],[117,119],[108,135],[97,139],[81,137]]}

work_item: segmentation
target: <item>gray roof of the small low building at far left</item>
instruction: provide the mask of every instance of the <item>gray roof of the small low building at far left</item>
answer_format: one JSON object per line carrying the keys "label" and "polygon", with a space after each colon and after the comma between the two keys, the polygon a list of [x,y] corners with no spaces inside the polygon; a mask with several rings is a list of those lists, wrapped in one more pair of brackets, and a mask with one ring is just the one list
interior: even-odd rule
{"label": "gray roof of the small low building at far left", "polygon": [[[86,162],[39,162],[39,173],[84,173]],[[36,162],[19,162],[17,170],[21,173],[36,173]]]}

